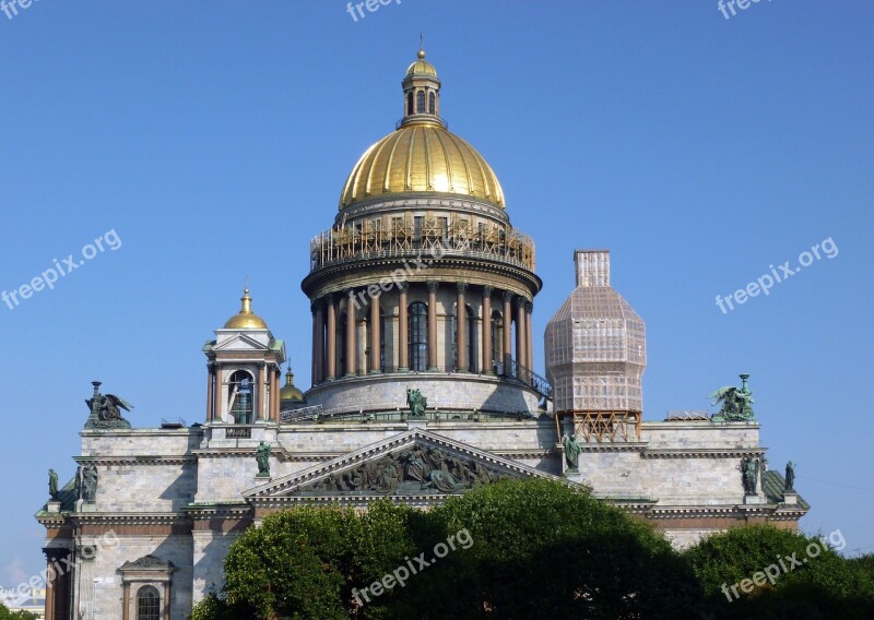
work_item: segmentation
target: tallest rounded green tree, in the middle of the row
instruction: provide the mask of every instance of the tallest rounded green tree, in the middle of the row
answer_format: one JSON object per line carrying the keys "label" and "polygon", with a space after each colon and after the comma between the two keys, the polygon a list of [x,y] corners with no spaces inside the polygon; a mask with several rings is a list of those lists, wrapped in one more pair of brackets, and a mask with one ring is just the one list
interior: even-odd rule
{"label": "tallest rounded green tree, in the middle of the row", "polygon": [[450,587],[476,596],[484,618],[697,617],[695,575],[668,540],[588,491],[506,480],[450,498],[434,517],[473,538],[474,576]]}

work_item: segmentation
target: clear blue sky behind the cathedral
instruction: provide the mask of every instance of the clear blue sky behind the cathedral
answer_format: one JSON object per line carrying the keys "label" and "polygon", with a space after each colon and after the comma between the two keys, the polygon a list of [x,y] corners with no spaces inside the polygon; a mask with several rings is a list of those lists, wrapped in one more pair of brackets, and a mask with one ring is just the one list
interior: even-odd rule
{"label": "clear blue sky behind the cathedral", "polygon": [[[74,473],[90,382],[133,403],[134,426],[202,420],[201,347],[247,276],[309,386],[308,240],[400,118],[423,31],[442,116],[538,245],[538,370],[572,250],[610,248],[647,323],[645,418],[707,408],[751,373],[771,466],[795,461],[813,504],[804,529],[874,550],[874,3],[763,0],[729,19],[716,0],[402,0],[357,21],[341,0],[17,11],[0,13],[0,290],[97,238],[104,251],[0,301],[0,585],[45,568],[33,513],[49,467]],[[716,303],[800,257],[767,296]]]}

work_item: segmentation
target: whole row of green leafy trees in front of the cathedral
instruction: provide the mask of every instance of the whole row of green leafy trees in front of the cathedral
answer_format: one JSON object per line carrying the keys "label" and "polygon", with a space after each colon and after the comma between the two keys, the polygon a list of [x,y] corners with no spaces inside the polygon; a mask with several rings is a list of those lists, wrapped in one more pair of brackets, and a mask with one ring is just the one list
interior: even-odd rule
{"label": "whole row of green leafy trees in front of the cathedral", "polygon": [[[808,561],[728,600],[723,585],[793,553]],[[374,594],[415,558],[428,565]],[[272,514],[232,546],[225,581],[191,620],[874,618],[874,556],[845,560],[816,537],[761,525],[678,553],[618,508],[541,479],[480,487],[433,511],[382,500],[367,512]]]}

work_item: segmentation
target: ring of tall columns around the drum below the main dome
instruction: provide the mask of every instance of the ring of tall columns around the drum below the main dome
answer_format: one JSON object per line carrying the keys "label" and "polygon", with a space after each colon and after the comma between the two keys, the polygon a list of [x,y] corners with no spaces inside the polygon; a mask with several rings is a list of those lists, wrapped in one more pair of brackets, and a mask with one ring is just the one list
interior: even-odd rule
{"label": "ring of tall columns around the drum below the main dome", "polygon": [[[423,283],[427,289],[427,366],[428,371],[439,371],[439,360],[441,354],[446,351],[438,350],[437,338],[437,293],[441,287],[452,287],[456,296],[456,308],[465,309],[474,295],[472,289],[465,283],[440,283],[437,281],[427,281]],[[386,360],[386,369],[389,371],[404,372],[410,370],[410,289],[409,283],[400,284],[397,289],[398,299],[398,313],[390,315],[387,319],[397,321],[398,333],[400,334],[398,347],[394,350],[392,359]],[[482,310],[480,329],[474,335],[476,343],[468,343],[469,330],[468,313],[466,311],[456,312],[454,325],[454,341],[456,341],[456,367],[457,372],[475,372],[476,368],[470,368],[465,351],[469,345],[476,345],[481,353],[475,360],[474,365],[480,365],[479,371],[483,374],[494,374],[494,362],[503,362],[503,359],[493,360],[493,336],[492,336],[492,298],[496,290],[492,286],[477,286],[476,297],[479,299],[480,309]],[[377,289],[375,291],[375,289]],[[376,293],[376,294],[374,294]],[[383,291],[379,287],[369,286],[366,288],[350,288],[343,290],[341,294],[328,294],[312,301],[312,382],[319,384],[324,381],[333,381],[340,379],[338,360],[338,317],[341,312],[345,312],[345,333],[343,339],[344,350],[343,354],[343,377],[356,377],[361,374],[376,374],[382,372],[382,303],[381,297]],[[510,354],[516,361],[529,369],[533,369],[534,355],[533,355],[533,337],[531,330],[531,314],[533,313],[533,303],[523,296],[517,295],[510,290],[503,290],[500,298],[503,300],[501,318],[503,318],[503,342],[500,343],[500,350],[506,356]],[[474,301],[474,303],[476,302]],[[512,312],[515,306],[515,314]],[[366,361],[359,368],[358,363],[358,310],[363,308],[363,317],[368,317],[368,337],[365,341],[369,348],[369,355]],[[498,305],[498,308],[501,308]],[[362,317],[362,318],[363,318]],[[512,338],[512,323],[516,324],[516,343],[513,348]],[[445,357],[442,357],[445,359]],[[506,372],[506,371],[505,371]]]}

